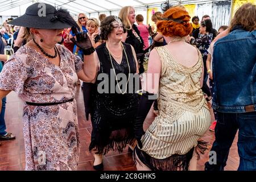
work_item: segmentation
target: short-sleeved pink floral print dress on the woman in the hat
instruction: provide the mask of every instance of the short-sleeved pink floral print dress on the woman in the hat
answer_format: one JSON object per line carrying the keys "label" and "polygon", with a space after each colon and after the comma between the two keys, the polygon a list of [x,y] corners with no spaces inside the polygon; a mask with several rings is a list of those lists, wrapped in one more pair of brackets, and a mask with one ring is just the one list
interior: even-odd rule
{"label": "short-sleeved pink floral print dress on the woman in the hat", "polygon": [[[82,61],[67,48],[56,45],[60,53],[57,66],[34,48],[21,47],[5,63],[0,89],[14,90],[25,102],[23,134],[26,170],[76,170],[79,159],[79,128],[75,99],[76,72]],[[26,102],[52,103],[51,106]]]}

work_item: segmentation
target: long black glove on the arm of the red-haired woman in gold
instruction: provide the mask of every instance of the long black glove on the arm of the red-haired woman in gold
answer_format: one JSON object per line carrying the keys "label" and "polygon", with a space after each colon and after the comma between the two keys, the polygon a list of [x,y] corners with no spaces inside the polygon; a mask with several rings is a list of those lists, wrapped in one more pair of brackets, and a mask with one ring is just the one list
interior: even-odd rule
{"label": "long black glove on the arm of the red-haired woman in gold", "polygon": [[137,117],[134,123],[134,135],[139,148],[142,148],[141,137],[145,133],[143,130],[143,122],[155,99],[156,94],[146,92],[142,94],[141,101],[139,102]]}

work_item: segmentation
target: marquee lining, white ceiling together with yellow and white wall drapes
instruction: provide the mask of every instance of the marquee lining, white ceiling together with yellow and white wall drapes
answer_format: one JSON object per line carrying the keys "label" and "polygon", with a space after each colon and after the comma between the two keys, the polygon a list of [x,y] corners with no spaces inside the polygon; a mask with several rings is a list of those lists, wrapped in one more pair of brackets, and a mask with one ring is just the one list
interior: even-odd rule
{"label": "marquee lining, white ceiling together with yellow and white wall drapes", "polygon": [[[233,1],[233,4],[231,3]],[[136,14],[144,16],[144,24],[154,24],[151,22],[150,10],[162,11],[160,6],[166,0],[0,0],[0,23],[3,20],[16,18],[23,15],[28,6],[32,3],[49,3],[57,8],[69,10],[75,19],[77,14],[85,13],[89,18],[97,18],[99,14],[118,15],[123,6],[133,6]],[[189,15],[201,17],[208,14],[213,21],[213,27],[228,25],[230,16],[245,2],[255,2],[255,0],[170,0],[171,5],[181,2],[189,12]]]}

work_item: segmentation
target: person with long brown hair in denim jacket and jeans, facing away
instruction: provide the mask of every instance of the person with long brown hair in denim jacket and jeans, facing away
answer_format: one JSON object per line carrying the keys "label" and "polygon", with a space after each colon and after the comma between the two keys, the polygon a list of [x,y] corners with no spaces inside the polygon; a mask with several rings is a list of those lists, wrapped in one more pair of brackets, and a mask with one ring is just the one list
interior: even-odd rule
{"label": "person with long brown hair in denim jacket and jeans, facing away", "polygon": [[[217,111],[215,140],[210,154],[216,163],[205,163],[206,171],[223,171],[238,131],[238,171],[256,170],[256,6],[244,3],[213,47],[214,96]],[[226,36],[225,36],[226,35]],[[211,156],[210,156],[211,157]]]}

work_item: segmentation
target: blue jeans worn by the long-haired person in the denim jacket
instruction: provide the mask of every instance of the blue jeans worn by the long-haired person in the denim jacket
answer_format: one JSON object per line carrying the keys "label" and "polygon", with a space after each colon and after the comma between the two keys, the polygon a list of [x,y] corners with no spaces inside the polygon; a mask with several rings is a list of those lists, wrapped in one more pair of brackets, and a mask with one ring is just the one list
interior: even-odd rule
{"label": "blue jeans worn by the long-haired person in the denim jacket", "polygon": [[215,127],[215,141],[211,151],[217,154],[217,164],[205,163],[207,171],[222,171],[226,166],[229,149],[238,131],[238,171],[256,170],[256,112],[220,113]]}

